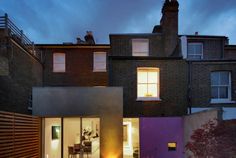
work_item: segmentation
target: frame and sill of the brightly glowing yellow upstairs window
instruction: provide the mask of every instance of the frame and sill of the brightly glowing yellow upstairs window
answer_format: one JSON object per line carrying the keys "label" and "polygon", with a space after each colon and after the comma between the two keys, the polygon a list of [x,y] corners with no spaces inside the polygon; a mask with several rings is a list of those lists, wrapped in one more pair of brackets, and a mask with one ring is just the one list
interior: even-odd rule
{"label": "frame and sill of the brightly glowing yellow upstairs window", "polygon": [[[139,83],[139,81],[138,81],[138,71],[139,70],[144,70],[144,71],[153,71],[153,70],[155,70],[157,73],[158,73],[158,78],[157,78],[157,96],[155,96],[155,97],[149,97],[149,96],[147,96],[147,97],[139,97],[138,96],[138,85],[139,84],[149,84],[148,83],[148,81],[147,81],[147,83]],[[153,83],[151,83],[151,84],[153,84]],[[137,99],[136,99],[137,101],[161,101],[161,99],[160,99],[160,69],[159,68],[157,68],[157,67],[138,67],[137,68]]]}

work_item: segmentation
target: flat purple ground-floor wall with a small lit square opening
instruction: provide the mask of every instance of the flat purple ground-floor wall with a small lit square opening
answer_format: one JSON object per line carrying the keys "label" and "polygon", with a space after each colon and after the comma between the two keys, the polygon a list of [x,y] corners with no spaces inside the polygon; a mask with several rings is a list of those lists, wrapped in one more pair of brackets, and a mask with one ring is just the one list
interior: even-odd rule
{"label": "flat purple ground-floor wall with a small lit square opening", "polygon": [[[140,118],[140,154],[142,158],[182,158],[183,119],[180,117]],[[176,142],[176,151],[168,151],[168,142]]]}

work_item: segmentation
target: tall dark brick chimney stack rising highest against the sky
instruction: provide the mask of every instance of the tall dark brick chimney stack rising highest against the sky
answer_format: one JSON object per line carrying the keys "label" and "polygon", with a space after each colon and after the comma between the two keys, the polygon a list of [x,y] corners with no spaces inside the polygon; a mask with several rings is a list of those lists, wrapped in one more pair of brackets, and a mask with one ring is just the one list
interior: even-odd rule
{"label": "tall dark brick chimney stack rising highest against the sky", "polygon": [[179,3],[177,0],[166,0],[164,2],[160,24],[164,51],[167,57],[171,56],[178,44],[178,13]]}

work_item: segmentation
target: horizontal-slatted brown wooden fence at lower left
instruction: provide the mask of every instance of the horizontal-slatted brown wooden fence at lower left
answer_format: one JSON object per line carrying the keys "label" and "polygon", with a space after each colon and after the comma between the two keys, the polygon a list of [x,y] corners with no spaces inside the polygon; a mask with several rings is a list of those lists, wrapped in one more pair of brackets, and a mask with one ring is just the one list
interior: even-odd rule
{"label": "horizontal-slatted brown wooden fence at lower left", "polygon": [[0,158],[40,158],[40,117],[0,111]]}

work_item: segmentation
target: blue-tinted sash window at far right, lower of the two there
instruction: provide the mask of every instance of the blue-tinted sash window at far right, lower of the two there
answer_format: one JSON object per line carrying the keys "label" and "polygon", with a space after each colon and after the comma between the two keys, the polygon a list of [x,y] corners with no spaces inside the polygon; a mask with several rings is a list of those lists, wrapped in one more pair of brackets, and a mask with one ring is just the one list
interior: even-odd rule
{"label": "blue-tinted sash window at far right, lower of the two there", "polygon": [[211,73],[211,102],[231,101],[231,74],[227,71]]}

